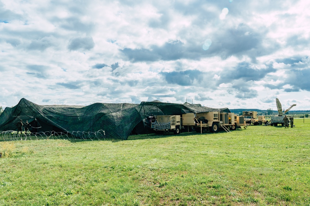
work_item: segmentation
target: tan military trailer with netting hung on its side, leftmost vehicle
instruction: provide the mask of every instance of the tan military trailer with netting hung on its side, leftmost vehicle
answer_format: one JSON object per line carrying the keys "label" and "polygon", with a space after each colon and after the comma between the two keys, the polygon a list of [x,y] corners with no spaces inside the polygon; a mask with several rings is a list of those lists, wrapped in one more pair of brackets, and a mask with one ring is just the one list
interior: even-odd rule
{"label": "tan military trailer with netting hung on its side, leftmost vehicle", "polygon": [[174,132],[179,134],[182,128],[180,115],[157,115],[155,121],[152,121],[151,128],[156,132]]}

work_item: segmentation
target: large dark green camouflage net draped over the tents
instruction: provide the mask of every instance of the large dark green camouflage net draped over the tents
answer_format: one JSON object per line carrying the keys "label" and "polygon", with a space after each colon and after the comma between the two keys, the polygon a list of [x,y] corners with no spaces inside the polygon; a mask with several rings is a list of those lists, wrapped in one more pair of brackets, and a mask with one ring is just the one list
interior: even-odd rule
{"label": "large dark green camouflage net draped over the tents", "polygon": [[202,107],[200,104],[162,103],[94,103],[89,106],[38,105],[21,99],[0,115],[0,131],[16,130],[16,123],[26,120],[31,132],[96,132],[104,130],[106,138],[126,140],[130,134],[150,132],[149,116],[182,115],[207,111],[230,112],[228,108]]}

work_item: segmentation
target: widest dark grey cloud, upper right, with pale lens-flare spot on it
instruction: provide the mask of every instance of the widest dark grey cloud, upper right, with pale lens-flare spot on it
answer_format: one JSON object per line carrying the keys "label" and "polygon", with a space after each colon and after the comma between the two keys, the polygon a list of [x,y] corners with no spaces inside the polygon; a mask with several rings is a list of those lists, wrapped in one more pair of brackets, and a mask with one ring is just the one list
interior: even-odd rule
{"label": "widest dark grey cloud, upper right, with pale lens-flare spot on it", "polygon": [[216,30],[207,38],[212,44],[204,49],[203,42],[188,40],[170,40],[162,46],[150,45],[149,48],[123,48],[120,51],[132,62],[139,61],[171,61],[179,59],[199,60],[203,57],[219,55],[226,59],[233,55],[248,55],[255,60],[257,56],[266,54],[262,45],[262,35],[246,24]]}

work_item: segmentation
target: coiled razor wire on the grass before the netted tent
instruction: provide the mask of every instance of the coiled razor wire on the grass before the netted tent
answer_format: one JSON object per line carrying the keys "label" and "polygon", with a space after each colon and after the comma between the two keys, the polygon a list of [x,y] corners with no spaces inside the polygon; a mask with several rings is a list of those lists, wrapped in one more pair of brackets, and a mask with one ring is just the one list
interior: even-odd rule
{"label": "coiled razor wire on the grass before the netted tent", "polygon": [[0,132],[0,140],[16,141],[16,140],[49,140],[49,139],[64,139],[64,140],[105,140],[105,132],[99,130],[97,132],[16,132],[3,131]]}

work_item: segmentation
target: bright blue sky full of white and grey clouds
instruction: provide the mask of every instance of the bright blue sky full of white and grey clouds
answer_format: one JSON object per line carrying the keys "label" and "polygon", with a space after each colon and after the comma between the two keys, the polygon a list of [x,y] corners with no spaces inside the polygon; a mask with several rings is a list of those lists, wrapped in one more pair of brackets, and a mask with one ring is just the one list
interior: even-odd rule
{"label": "bright blue sky full of white and grey clouds", "polygon": [[0,106],[310,109],[308,0],[0,0]]}

